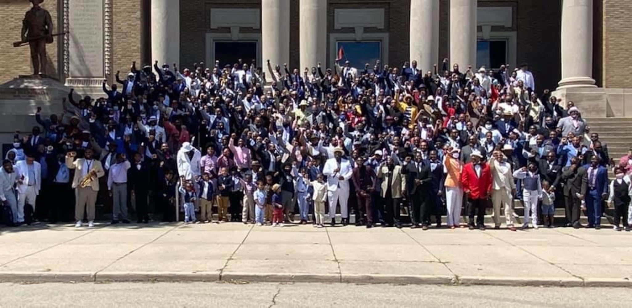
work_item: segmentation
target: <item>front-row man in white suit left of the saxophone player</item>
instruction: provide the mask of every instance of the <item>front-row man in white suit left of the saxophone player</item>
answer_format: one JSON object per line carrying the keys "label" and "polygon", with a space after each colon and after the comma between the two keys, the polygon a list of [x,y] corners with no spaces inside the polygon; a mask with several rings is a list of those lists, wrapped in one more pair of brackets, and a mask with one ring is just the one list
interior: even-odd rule
{"label": "front-row man in white suit left of the saxophone player", "polygon": [[[16,223],[24,222],[24,205],[31,204],[35,211],[35,198],[42,187],[42,166],[35,162],[35,155],[29,151],[26,160],[15,163],[18,179],[18,214]],[[32,213],[31,213],[32,215]],[[30,222],[30,218],[27,222]]]}

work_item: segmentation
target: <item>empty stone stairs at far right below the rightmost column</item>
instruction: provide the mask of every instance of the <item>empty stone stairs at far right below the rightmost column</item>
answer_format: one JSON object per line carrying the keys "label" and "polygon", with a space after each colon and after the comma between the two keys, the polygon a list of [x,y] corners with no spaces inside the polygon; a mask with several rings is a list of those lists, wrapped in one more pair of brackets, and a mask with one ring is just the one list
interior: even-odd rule
{"label": "empty stone stairs at far right below the rightmost column", "polygon": [[619,163],[619,158],[632,146],[632,117],[586,118],[591,133],[599,133],[599,140],[608,147],[608,154]]}

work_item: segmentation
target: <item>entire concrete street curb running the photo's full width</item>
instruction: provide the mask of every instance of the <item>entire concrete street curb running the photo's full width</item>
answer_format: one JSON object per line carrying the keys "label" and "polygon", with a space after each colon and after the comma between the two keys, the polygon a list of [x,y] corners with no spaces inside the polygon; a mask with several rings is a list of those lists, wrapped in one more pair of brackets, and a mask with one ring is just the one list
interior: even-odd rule
{"label": "entire concrete street curb running the photo's full width", "polygon": [[0,283],[80,283],[80,282],[304,282],[404,285],[499,285],[507,287],[627,287],[624,278],[520,278],[483,276],[382,275],[382,274],[308,274],[240,273],[219,271],[178,272],[1,272]]}

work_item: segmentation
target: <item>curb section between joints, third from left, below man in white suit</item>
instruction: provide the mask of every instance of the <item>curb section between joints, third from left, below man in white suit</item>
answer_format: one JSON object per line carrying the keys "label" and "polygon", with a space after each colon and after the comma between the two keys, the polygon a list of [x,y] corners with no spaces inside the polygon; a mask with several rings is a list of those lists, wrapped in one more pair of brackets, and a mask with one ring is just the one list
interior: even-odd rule
{"label": "curb section between joints, third from left, below man in white suit", "polygon": [[338,274],[307,274],[307,273],[222,273],[221,281],[243,282],[311,282],[311,283],[339,283]]}

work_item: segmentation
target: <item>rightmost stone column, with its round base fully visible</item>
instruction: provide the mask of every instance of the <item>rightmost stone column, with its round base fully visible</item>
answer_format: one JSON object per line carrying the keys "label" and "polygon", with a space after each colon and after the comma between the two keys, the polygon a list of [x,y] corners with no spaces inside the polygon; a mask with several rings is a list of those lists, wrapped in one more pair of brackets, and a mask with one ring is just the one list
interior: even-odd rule
{"label": "rightmost stone column, with its round base fully visible", "polygon": [[595,86],[592,0],[562,1],[562,80],[558,88]]}

